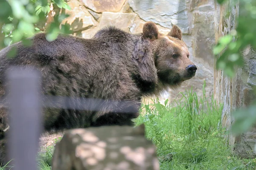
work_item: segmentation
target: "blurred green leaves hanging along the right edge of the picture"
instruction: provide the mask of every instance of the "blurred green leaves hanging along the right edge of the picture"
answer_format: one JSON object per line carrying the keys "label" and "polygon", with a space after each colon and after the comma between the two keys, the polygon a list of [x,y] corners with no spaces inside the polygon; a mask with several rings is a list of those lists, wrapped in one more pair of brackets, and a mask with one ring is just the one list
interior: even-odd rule
{"label": "blurred green leaves hanging along the right edge of the picture", "polygon": [[[227,0],[217,0],[224,4]],[[213,49],[217,57],[216,68],[232,78],[236,68],[244,65],[242,51],[248,46],[256,49],[256,0],[234,0],[239,3],[239,16],[236,18],[235,30],[221,37]],[[230,9],[231,10],[231,9]],[[229,16],[228,16],[229,17]],[[246,132],[256,123],[256,104],[248,108],[241,108],[233,113],[235,122],[231,131],[234,134]]]}

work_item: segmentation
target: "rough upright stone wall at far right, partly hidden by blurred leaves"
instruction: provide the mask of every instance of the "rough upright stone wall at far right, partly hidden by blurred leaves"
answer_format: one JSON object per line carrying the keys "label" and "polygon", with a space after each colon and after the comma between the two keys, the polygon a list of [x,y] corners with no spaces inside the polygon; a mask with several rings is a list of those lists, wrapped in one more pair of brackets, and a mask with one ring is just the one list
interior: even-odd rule
{"label": "rough upright stone wall at far right, partly hidden by blurred leaves", "polygon": [[[219,8],[218,5],[216,7]],[[221,6],[215,15],[218,26],[216,37],[228,34],[236,27],[235,17],[239,14],[239,4],[230,3]],[[222,126],[227,130],[232,125],[231,112],[236,108],[247,107],[256,97],[253,88],[256,85],[256,51],[248,47],[243,52],[245,65],[236,70],[232,79],[224,77],[222,71],[214,72],[214,96],[218,102],[224,104],[222,111]],[[252,129],[240,136],[227,135],[227,142],[233,146],[233,150],[241,157],[255,157],[256,129]]]}

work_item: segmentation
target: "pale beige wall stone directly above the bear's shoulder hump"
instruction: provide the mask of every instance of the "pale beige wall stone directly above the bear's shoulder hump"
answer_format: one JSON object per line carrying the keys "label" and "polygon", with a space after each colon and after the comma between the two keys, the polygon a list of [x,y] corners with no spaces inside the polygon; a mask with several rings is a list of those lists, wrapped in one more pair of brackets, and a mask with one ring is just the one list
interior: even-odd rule
{"label": "pale beige wall stone directly above the bear's shoulder hump", "polygon": [[124,31],[129,31],[137,14],[103,12],[98,30],[105,26],[116,26]]}

